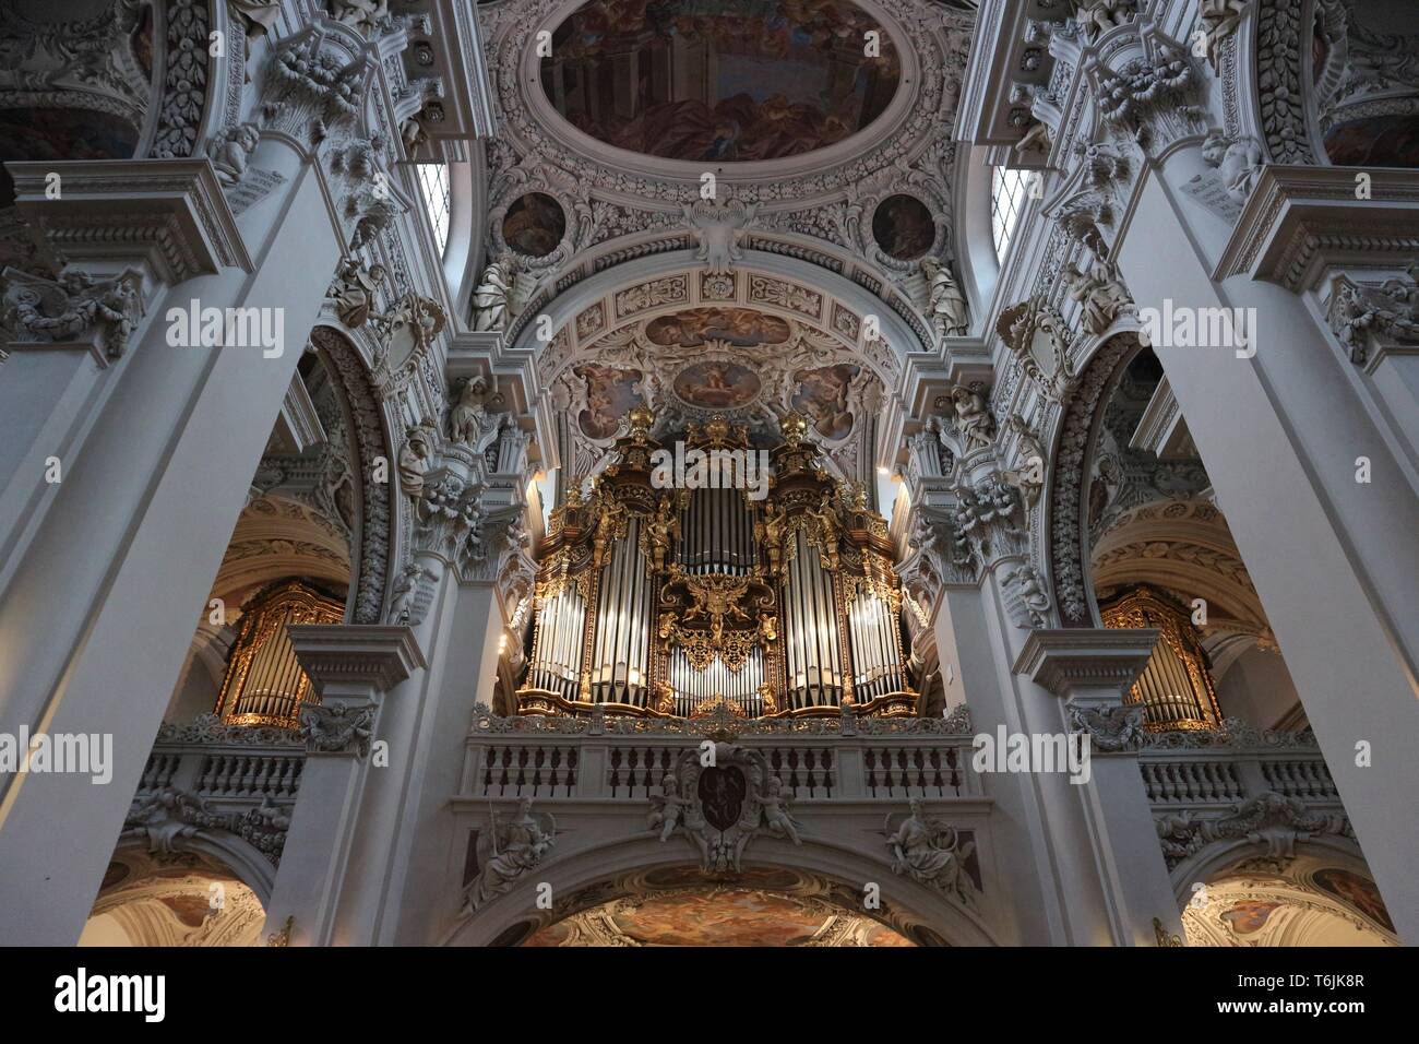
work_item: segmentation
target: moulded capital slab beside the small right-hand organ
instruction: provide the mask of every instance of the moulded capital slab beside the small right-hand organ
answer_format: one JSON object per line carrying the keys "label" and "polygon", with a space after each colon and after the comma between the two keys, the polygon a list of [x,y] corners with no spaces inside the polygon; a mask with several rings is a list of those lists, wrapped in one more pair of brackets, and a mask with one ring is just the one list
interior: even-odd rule
{"label": "moulded capital slab beside the small right-hand organ", "polygon": [[1142,673],[1156,642],[1152,628],[1032,631],[1013,669],[1061,699],[1097,700],[1103,689],[1117,702]]}

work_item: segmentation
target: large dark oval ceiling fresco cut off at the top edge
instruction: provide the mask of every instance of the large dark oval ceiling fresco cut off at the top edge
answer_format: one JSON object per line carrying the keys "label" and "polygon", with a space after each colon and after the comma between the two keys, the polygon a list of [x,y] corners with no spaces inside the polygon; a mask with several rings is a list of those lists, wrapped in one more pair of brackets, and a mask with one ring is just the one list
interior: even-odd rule
{"label": "large dark oval ceiling fresco cut off at the top edge", "polygon": [[542,58],[548,99],[579,131],[690,162],[833,145],[900,78],[887,33],[847,0],[592,0]]}

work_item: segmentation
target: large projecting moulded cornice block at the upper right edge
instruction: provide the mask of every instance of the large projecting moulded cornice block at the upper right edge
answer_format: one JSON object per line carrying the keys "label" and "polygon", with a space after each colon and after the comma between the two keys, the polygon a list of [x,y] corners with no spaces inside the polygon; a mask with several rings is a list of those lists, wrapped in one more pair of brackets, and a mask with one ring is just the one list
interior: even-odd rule
{"label": "large projecting moulded cornice block at the upper right edge", "polygon": [[1416,253],[1419,173],[1273,165],[1261,168],[1213,278],[1249,276],[1300,294],[1334,268],[1402,270]]}

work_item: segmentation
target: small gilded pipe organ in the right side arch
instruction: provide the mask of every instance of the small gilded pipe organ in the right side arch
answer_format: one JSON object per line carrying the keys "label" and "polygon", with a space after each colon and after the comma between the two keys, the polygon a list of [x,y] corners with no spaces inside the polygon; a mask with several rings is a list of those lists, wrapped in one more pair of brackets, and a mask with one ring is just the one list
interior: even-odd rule
{"label": "small gilded pipe organ in the right side arch", "polygon": [[1098,611],[1104,626],[1159,632],[1158,645],[1127,700],[1144,705],[1145,729],[1215,729],[1222,722],[1206,652],[1183,609],[1138,585]]}

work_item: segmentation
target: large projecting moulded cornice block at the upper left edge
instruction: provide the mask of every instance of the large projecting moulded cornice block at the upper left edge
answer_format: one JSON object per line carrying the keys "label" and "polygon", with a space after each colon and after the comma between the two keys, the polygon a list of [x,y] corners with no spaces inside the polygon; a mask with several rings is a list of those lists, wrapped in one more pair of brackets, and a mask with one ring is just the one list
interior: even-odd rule
{"label": "large projecting moulded cornice block at the upper left edge", "polygon": [[253,270],[209,159],[11,162],[6,169],[16,210],[65,264],[112,271],[143,264],[169,284],[226,267]]}

